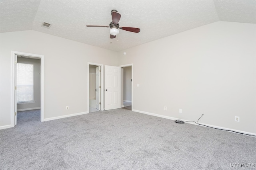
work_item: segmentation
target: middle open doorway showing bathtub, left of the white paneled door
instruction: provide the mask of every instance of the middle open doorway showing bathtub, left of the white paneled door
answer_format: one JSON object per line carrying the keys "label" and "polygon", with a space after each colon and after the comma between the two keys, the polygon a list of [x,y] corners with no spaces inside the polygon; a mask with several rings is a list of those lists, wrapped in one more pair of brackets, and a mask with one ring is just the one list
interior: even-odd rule
{"label": "middle open doorway showing bathtub, left of the white paneled door", "polygon": [[102,64],[88,63],[88,112],[102,110]]}

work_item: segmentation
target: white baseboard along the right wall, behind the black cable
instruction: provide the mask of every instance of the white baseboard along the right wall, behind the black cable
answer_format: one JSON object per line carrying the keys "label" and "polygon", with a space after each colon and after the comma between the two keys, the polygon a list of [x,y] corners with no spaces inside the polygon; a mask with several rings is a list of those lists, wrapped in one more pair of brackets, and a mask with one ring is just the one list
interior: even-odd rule
{"label": "white baseboard along the right wall, behind the black cable", "polygon": [[[132,111],[135,111],[135,112],[138,112],[138,113],[143,113],[143,114],[146,114],[146,115],[152,115],[152,116],[156,116],[156,117],[162,117],[162,118],[170,119],[170,120],[178,120],[178,118],[176,118],[176,117],[169,117],[169,116],[164,116],[164,115],[158,115],[158,114],[149,113],[149,112],[146,112],[146,111],[140,111],[140,110],[134,110],[134,109],[133,109]],[[184,119],[182,119],[182,121],[189,121],[189,120],[184,120]],[[193,125],[198,125],[198,124],[193,123],[193,122],[186,122],[186,123],[193,124]],[[202,123],[202,124],[204,124],[204,125],[206,125],[206,126],[218,128],[218,129],[229,130],[228,132],[230,132],[230,131],[235,131],[235,132],[244,133],[244,134],[248,134],[248,135],[256,135],[256,133],[250,133],[250,132],[246,132],[246,131],[239,131],[239,130],[236,130],[236,129],[229,129],[229,128],[226,128],[226,127],[220,127],[220,126],[215,126],[215,125],[209,125],[209,124],[205,124],[205,123]],[[198,126],[202,126],[202,125],[198,125]],[[202,127],[205,127],[205,126],[202,126]]]}

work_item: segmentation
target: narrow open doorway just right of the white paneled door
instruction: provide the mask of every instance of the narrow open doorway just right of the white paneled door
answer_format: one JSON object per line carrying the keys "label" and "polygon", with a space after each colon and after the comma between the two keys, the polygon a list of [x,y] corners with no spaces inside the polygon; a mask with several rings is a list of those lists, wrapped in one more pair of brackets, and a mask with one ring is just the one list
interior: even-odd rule
{"label": "narrow open doorway just right of the white paneled door", "polygon": [[122,68],[122,108],[132,110],[132,64]]}

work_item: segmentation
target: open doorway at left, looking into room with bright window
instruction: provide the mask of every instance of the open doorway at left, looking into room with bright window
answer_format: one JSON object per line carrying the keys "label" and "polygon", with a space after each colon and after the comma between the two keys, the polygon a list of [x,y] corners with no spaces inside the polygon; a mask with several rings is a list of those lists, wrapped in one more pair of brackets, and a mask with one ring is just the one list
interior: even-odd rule
{"label": "open doorway at left, looking into room with bright window", "polygon": [[40,121],[41,109],[41,59],[17,55],[15,124]]}

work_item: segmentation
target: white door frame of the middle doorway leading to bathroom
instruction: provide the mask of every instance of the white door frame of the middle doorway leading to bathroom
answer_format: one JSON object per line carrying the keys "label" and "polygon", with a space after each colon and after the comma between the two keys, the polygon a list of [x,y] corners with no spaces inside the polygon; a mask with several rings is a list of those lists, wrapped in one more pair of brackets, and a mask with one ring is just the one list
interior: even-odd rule
{"label": "white door frame of the middle doorway leading to bathroom", "polygon": [[103,73],[104,73],[104,69],[103,69],[103,64],[98,64],[98,63],[87,63],[87,108],[88,108],[88,113],[90,113],[90,95],[89,95],[89,83],[90,83],[90,65],[94,65],[94,66],[100,66],[100,110],[104,110],[104,84],[103,84]]}

